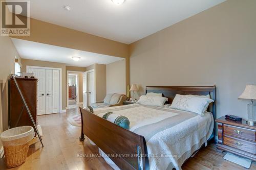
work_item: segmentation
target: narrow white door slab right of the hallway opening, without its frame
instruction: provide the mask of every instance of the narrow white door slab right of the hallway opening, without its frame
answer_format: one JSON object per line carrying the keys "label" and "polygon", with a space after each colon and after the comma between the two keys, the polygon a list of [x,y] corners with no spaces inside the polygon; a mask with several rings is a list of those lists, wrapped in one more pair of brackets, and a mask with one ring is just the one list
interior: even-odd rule
{"label": "narrow white door slab right of the hallway opening, without its frame", "polygon": [[94,71],[90,71],[87,73],[87,104],[91,106],[92,103],[95,103],[95,79],[94,79]]}

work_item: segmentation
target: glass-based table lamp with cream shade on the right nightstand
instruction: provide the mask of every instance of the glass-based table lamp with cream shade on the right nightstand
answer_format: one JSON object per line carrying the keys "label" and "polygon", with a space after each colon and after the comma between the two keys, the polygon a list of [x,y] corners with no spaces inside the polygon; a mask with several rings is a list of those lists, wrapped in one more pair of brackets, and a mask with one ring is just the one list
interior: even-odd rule
{"label": "glass-based table lamp with cream shade on the right nightstand", "polygon": [[239,96],[239,99],[249,99],[251,103],[247,105],[248,119],[246,122],[249,126],[254,126],[256,123],[256,85],[246,85],[244,92]]}

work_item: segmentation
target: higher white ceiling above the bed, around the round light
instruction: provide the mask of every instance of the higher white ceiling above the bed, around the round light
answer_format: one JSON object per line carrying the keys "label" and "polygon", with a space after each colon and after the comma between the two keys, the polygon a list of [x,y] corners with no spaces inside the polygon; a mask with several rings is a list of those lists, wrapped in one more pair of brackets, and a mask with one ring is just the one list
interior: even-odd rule
{"label": "higher white ceiling above the bed, around the round light", "polygon": [[[130,44],[226,0],[31,0],[31,17]],[[65,11],[64,5],[71,10]]]}

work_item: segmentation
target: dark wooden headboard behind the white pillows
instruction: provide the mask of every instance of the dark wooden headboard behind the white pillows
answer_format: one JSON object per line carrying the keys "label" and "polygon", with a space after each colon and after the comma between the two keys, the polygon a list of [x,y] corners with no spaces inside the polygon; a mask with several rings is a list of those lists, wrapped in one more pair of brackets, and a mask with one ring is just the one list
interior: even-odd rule
{"label": "dark wooden headboard behind the white pillows", "polygon": [[[162,93],[165,98],[168,98],[166,103],[172,104],[176,94],[194,94],[194,95],[207,95],[210,94],[210,98],[215,102],[211,103],[208,107],[208,111],[216,119],[216,86],[146,86],[147,92]],[[216,124],[214,124],[214,133],[211,138],[215,138]]]}

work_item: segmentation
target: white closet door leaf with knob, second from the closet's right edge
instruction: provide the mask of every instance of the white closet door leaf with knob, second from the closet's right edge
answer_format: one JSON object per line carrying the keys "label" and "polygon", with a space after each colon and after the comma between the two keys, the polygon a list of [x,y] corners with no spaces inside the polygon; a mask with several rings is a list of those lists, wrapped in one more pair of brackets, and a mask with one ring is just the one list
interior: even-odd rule
{"label": "white closet door leaf with knob, second from the closet's right edge", "polygon": [[52,69],[46,69],[46,114],[53,113]]}

